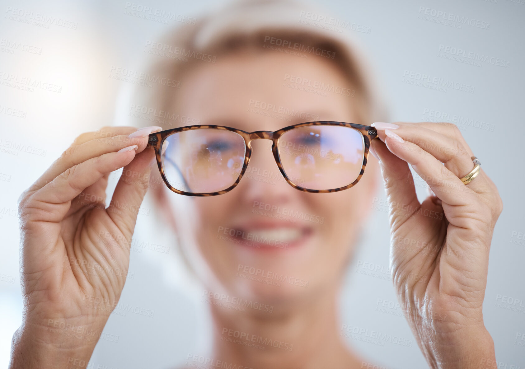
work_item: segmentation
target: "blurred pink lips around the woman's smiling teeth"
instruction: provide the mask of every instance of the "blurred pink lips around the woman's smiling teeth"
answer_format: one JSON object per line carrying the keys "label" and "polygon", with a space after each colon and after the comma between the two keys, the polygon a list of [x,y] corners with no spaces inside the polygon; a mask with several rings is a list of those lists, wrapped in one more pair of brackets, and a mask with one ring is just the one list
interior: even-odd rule
{"label": "blurred pink lips around the woman's smiling teeth", "polygon": [[[301,232],[301,236],[291,242],[278,239],[269,239],[266,242],[260,242],[255,235],[251,233],[251,231],[278,228],[295,228]],[[236,230],[235,236],[228,236],[235,240],[232,242],[233,244],[251,250],[266,252],[283,252],[300,248],[306,245],[307,240],[313,234],[311,226],[291,224],[289,222],[272,222],[268,220],[250,220],[242,224],[237,224],[230,229]]]}

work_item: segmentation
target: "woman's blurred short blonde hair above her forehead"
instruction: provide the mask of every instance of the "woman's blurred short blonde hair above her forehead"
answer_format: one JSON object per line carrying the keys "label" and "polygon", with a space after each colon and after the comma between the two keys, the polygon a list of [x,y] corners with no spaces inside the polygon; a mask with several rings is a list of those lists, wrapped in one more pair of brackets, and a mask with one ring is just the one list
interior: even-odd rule
{"label": "woman's blurred short blonde hair above her forehead", "polygon": [[[201,123],[195,117],[181,115],[182,109],[176,106],[176,95],[184,90],[184,73],[235,51],[269,51],[268,40],[331,53],[331,57],[323,59],[333,63],[356,91],[351,101],[359,121],[352,123],[388,121],[384,99],[375,86],[362,47],[349,35],[319,28],[323,24],[305,24],[301,18],[308,12],[319,14],[318,10],[292,0],[241,0],[166,33],[152,48],[158,55],[145,62],[151,79],[160,77],[167,82],[135,89],[131,105],[134,108],[127,124],[169,129]],[[166,48],[170,52],[164,52]]]}

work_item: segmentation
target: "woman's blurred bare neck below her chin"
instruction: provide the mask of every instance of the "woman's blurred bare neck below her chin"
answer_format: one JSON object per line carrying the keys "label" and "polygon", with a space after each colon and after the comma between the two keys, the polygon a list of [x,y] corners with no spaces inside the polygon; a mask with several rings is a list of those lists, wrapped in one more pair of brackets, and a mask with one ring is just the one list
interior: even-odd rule
{"label": "woman's blurred bare neck below her chin", "polygon": [[362,361],[338,329],[338,288],[299,307],[275,309],[264,317],[212,305],[214,355],[246,368],[359,368]]}

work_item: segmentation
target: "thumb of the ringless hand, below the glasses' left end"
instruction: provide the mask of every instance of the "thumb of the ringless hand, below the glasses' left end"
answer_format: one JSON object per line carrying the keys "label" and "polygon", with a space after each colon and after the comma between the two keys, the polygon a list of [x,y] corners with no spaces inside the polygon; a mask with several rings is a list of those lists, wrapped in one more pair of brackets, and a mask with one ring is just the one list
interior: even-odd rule
{"label": "thumb of the ringless hand, below the glasses' left end", "polygon": [[153,149],[146,149],[137,154],[135,159],[124,167],[107,208],[108,215],[113,222],[119,227],[122,234],[130,239],[137,216],[141,211],[140,204],[148,190],[154,157]]}

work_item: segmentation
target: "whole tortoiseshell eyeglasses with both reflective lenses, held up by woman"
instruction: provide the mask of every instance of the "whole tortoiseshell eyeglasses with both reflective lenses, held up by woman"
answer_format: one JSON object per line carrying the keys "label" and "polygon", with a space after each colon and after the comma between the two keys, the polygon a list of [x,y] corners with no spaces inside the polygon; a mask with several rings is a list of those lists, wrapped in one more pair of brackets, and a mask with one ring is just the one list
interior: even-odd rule
{"label": "whole tortoiseshell eyeglasses with both reflective lenses, held up by woman", "polygon": [[231,191],[246,172],[251,141],[272,140],[279,171],[293,188],[338,192],[359,182],[377,131],[369,125],[307,122],[278,131],[245,132],[220,125],[190,125],[149,135],[159,171],[171,191],[215,196]]}

